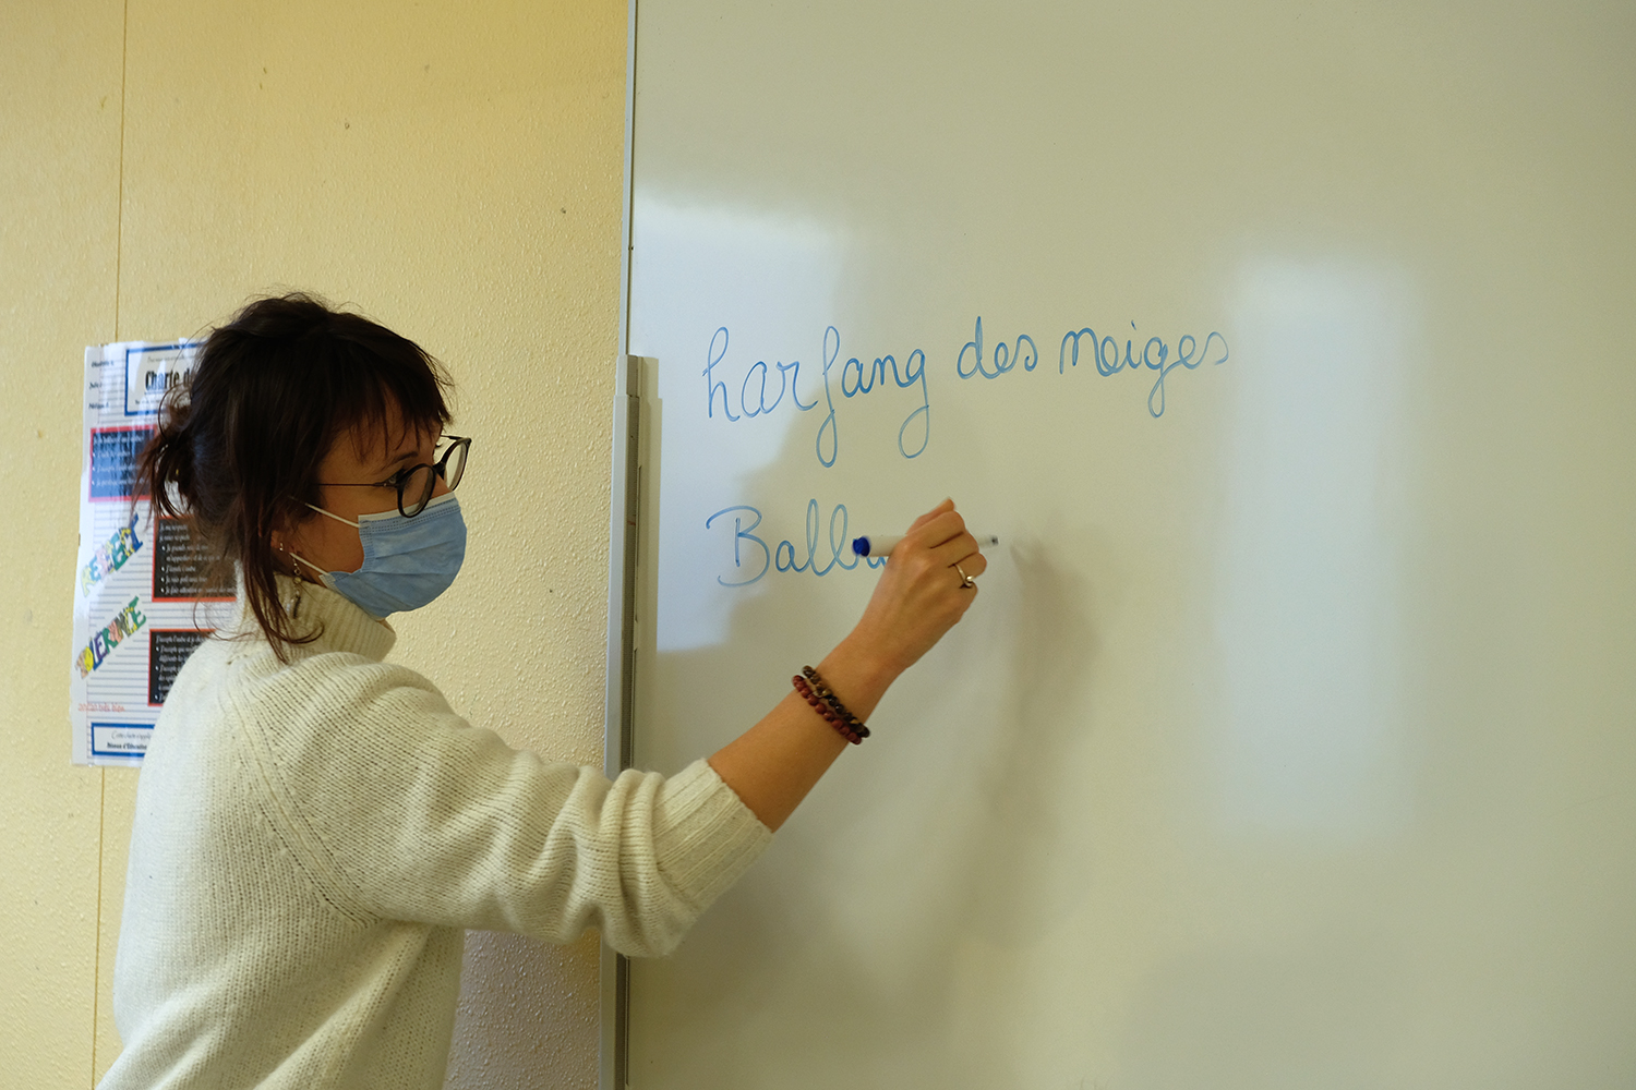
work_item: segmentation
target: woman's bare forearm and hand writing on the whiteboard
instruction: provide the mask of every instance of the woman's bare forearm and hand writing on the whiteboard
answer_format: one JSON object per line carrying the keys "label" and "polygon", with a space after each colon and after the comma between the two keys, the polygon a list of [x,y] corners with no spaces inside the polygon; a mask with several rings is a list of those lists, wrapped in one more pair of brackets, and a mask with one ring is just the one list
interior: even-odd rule
{"label": "woman's bare forearm and hand writing on the whiteboard", "polygon": [[[869,719],[887,690],[977,598],[954,570],[988,567],[965,520],[944,500],[910,526],[892,551],[857,628],[818,663],[818,673],[859,719]],[[792,670],[793,672],[793,670]],[[767,829],[777,829],[847,745],[790,690],[754,727],[710,758],[710,766]]]}

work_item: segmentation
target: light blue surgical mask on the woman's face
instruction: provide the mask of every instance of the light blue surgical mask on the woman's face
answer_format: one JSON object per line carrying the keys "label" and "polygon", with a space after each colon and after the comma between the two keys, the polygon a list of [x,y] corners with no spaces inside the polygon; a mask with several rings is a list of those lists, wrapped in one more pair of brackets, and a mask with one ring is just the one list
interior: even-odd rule
{"label": "light blue surgical mask on the woman's face", "polygon": [[357,572],[326,572],[299,554],[294,557],[317,572],[326,587],[375,618],[419,610],[432,601],[448,590],[466,559],[466,520],[460,516],[453,492],[437,497],[414,518],[381,511],[352,521],[321,507],[312,510],[358,528],[363,567]]}

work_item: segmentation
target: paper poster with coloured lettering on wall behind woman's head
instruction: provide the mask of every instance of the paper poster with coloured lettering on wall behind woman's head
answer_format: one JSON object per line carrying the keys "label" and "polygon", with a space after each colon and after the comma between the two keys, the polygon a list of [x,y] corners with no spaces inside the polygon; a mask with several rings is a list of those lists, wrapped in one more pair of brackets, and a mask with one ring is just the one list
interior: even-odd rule
{"label": "paper poster with coloured lettering on wall behind woman's head", "polygon": [[164,395],[188,382],[196,345],[85,350],[80,547],[74,577],[69,719],[77,765],[141,765],[170,685],[224,616],[232,587],[185,520],[155,518],[136,461]]}

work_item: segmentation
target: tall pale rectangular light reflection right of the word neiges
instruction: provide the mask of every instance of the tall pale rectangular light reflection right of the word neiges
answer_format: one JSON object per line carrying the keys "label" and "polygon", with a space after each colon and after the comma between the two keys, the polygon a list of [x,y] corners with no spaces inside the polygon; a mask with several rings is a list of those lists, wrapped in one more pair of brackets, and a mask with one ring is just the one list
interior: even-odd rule
{"label": "tall pale rectangular light reflection right of the word neiges", "polygon": [[1389,266],[1265,261],[1225,451],[1216,634],[1229,829],[1356,842],[1407,820],[1400,526],[1414,297]]}

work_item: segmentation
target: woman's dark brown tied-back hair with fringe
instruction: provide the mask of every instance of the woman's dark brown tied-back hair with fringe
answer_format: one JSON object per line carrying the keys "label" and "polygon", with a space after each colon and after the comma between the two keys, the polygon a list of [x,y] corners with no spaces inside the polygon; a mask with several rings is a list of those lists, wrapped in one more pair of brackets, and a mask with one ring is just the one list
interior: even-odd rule
{"label": "woman's dark brown tied-back hair with fringe", "polygon": [[172,392],[137,462],[134,495],[190,516],[218,575],[244,572],[245,605],[280,660],[299,634],[278,601],[272,533],[312,516],[317,467],[355,425],[437,431],[448,377],[414,342],[322,299],[257,299],[211,330],[190,382]]}

